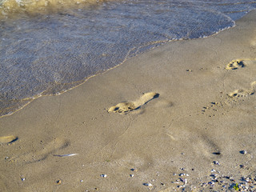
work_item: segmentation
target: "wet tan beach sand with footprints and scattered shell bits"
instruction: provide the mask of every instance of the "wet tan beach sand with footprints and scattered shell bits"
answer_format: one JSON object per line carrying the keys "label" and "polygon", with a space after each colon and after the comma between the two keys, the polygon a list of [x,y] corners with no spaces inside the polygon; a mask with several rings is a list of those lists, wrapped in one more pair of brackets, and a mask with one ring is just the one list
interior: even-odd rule
{"label": "wet tan beach sand with footprints and scattered shell bits", "polygon": [[0,118],[1,191],[235,190],[248,176],[254,186],[255,18]]}

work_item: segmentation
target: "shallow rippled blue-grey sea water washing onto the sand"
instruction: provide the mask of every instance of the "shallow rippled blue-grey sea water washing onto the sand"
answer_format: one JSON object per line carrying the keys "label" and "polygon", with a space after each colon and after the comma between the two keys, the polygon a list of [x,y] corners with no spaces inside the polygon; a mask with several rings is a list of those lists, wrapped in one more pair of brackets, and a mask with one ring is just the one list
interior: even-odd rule
{"label": "shallow rippled blue-grey sea water washing onto the sand", "polygon": [[0,0],[0,116],[165,42],[235,25],[251,0]]}

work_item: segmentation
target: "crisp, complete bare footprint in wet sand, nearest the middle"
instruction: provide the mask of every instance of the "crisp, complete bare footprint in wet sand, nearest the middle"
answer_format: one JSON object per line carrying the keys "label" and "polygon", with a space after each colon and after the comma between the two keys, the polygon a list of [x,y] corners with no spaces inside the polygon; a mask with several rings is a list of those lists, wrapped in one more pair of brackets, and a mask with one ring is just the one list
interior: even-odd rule
{"label": "crisp, complete bare footprint in wet sand, nearest the middle", "polygon": [[143,94],[137,101],[134,102],[120,102],[116,106],[111,106],[108,112],[126,114],[131,110],[137,110],[141,106],[145,105],[147,102],[154,98],[158,98],[159,94],[150,92]]}

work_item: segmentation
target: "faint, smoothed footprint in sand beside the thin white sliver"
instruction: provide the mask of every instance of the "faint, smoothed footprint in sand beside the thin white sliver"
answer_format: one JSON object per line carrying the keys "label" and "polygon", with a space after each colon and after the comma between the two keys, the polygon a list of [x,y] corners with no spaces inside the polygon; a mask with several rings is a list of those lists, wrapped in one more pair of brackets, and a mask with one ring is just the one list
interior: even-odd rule
{"label": "faint, smoothed footprint in sand beside the thin white sliver", "polygon": [[54,140],[42,143],[38,149],[29,151],[25,154],[19,154],[18,157],[13,158],[14,161],[22,161],[25,163],[40,162],[45,160],[50,154],[56,153],[58,150],[66,148],[70,142],[62,138],[54,138]]}

